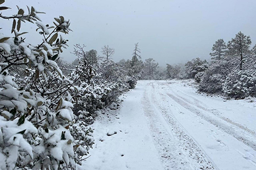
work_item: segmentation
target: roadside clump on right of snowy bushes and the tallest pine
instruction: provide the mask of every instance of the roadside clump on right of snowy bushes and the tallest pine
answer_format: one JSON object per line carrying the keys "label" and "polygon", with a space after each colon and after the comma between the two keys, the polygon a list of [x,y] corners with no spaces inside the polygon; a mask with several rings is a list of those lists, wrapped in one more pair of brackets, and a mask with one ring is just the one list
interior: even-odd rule
{"label": "roadside clump on right of snowy bushes and the tallest pine", "polygon": [[[216,41],[217,42],[217,41]],[[228,42],[224,57],[210,63],[199,84],[199,91],[243,98],[255,96],[255,48],[249,49],[250,36],[237,33]]]}

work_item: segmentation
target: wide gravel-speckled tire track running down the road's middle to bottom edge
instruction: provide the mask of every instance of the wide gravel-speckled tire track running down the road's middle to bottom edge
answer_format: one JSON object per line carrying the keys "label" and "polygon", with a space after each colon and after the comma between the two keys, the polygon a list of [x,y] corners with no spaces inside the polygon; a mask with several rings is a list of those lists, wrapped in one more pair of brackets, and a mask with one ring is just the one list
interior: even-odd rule
{"label": "wide gravel-speckled tire track running down the road's middle to bottom edge", "polygon": [[[154,87],[152,83],[150,85]],[[160,107],[154,97],[154,88],[151,93],[153,102],[151,102],[147,92],[147,90],[144,92],[143,109],[166,169],[216,169],[196,142],[185,133],[179,123],[171,116],[170,112]],[[162,122],[159,116],[163,118]],[[162,123],[166,123],[167,126],[162,125]],[[164,152],[166,149],[168,153]]]}

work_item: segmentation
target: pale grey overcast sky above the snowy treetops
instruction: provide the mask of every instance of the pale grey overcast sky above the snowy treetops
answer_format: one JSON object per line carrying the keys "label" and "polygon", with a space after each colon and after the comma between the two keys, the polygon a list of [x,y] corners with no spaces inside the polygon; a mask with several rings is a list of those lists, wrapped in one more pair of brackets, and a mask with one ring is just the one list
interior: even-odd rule
{"label": "pale grey overcast sky above the snowy treetops", "polygon": [[[73,61],[73,44],[85,44],[86,50],[109,45],[115,49],[114,61],[130,59],[134,44],[139,42],[141,57],[154,58],[160,65],[187,62],[192,58],[209,59],[212,45],[218,39],[225,42],[239,31],[256,42],[255,0],[6,0],[12,7],[3,14],[15,14],[18,5],[34,6],[43,23],[63,15],[71,20],[71,32],[65,35],[69,48],[61,56]],[[4,26],[2,24],[5,24]],[[2,22],[0,32],[10,34],[12,22]],[[8,28],[8,29],[6,29]],[[39,44],[42,39],[35,26],[22,25],[30,30],[27,42]]]}

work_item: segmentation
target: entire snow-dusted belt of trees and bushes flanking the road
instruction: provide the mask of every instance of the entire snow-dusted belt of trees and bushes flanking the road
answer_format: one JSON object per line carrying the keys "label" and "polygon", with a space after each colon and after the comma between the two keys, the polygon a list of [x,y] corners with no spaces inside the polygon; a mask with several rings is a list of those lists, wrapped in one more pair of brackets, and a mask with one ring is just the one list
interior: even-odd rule
{"label": "entire snow-dusted belt of trees and bushes flanking the road", "polygon": [[[0,169],[76,169],[94,145],[89,125],[98,111],[121,103],[119,96],[138,80],[195,79],[199,93],[256,97],[256,46],[242,32],[228,42],[218,39],[210,61],[194,58],[160,67],[153,58],[142,60],[137,42],[130,59],[114,62],[109,45],[102,45],[100,55],[68,44],[71,22],[64,16],[44,24],[40,15],[47,14],[32,6],[6,16],[10,8],[4,2],[0,18],[10,25],[0,26],[10,27],[13,37],[0,34]],[[20,32],[23,24],[38,28]],[[30,44],[30,33],[42,41]],[[61,58],[67,48],[76,56],[72,63]]]}

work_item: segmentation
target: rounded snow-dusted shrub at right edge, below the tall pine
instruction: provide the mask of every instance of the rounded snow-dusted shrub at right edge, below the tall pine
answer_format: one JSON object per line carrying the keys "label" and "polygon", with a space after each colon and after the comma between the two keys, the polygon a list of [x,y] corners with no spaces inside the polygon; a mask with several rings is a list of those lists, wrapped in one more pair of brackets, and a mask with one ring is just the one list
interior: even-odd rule
{"label": "rounded snow-dusted shrub at right edge, below the tall pine", "polygon": [[256,71],[236,70],[230,73],[223,83],[224,94],[244,98],[256,96]]}

